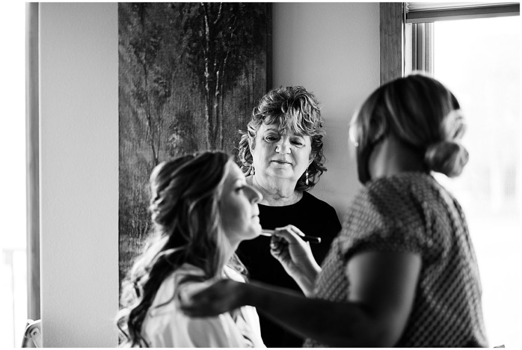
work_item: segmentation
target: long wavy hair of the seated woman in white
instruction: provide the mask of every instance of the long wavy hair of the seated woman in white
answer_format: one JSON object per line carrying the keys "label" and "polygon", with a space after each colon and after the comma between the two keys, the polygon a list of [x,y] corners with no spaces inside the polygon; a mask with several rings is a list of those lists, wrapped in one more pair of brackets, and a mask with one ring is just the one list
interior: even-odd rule
{"label": "long wavy hair of the seated woman in white", "polygon": [[[221,151],[185,155],[156,166],[150,176],[153,231],[122,283],[116,323],[121,346],[148,346],[141,335],[148,309],[165,278],[185,263],[199,267],[204,281],[225,265],[243,273],[221,228],[219,199],[231,156]],[[174,297],[174,296],[172,296]]]}

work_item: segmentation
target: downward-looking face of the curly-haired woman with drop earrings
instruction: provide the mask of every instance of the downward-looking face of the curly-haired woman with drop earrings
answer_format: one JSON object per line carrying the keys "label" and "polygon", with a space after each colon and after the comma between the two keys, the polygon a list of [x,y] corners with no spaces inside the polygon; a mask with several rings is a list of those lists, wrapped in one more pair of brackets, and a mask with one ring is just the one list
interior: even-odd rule
{"label": "downward-looking face of the curly-haired woman with drop earrings", "polygon": [[313,161],[311,137],[280,134],[278,124],[262,123],[250,152],[256,175],[292,180],[295,183]]}

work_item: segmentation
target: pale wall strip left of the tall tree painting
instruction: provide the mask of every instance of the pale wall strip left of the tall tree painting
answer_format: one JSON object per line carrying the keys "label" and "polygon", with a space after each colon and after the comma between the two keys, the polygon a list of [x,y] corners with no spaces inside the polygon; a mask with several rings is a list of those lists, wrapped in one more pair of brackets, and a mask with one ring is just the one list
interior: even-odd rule
{"label": "pale wall strip left of the tall tree painting", "polygon": [[117,344],[116,3],[40,3],[45,347]]}

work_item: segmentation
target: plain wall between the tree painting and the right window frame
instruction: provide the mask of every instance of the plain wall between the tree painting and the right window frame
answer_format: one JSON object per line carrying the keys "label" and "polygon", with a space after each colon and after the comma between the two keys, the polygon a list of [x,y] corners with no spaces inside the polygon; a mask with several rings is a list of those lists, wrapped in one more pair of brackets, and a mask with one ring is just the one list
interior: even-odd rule
{"label": "plain wall between the tree painting and the right window frame", "polygon": [[348,124],[379,85],[379,4],[274,3],[272,14],[273,84],[302,85],[321,102],[328,171],[311,193],[342,220],[359,188]]}

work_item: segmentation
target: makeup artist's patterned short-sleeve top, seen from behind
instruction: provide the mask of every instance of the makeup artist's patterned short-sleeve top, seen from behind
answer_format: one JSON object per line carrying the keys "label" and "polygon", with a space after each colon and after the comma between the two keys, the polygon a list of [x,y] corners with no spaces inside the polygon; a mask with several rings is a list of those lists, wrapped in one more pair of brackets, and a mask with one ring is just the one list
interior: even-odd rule
{"label": "makeup artist's patterned short-sleeve top, seen from behind", "polygon": [[[347,301],[350,258],[363,251],[413,252],[422,266],[397,347],[485,347],[476,256],[460,205],[429,174],[405,172],[367,184],[352,203],[317,276],[313,295]],[[326,346],[306,340],[305,347]]]}

